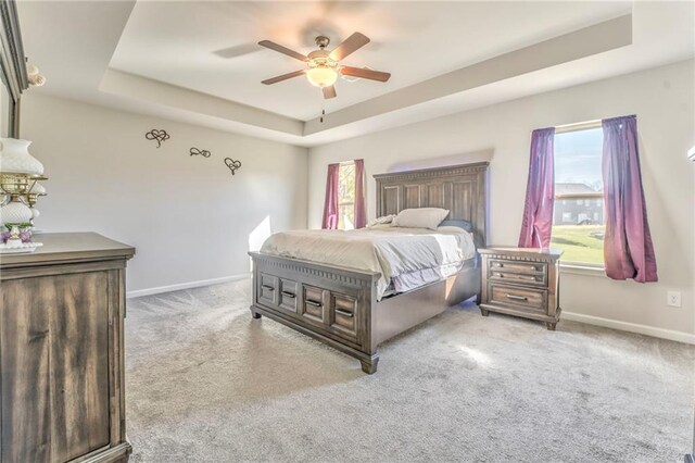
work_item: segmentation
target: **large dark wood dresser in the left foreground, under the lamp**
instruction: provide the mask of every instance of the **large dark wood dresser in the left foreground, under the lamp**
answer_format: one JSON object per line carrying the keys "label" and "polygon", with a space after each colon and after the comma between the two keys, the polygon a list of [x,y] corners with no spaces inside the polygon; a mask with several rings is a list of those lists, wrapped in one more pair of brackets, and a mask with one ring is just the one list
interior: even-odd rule
{"label": "large dark wood dresser in the left foreground, under the lamp", "polygon": [[125,267],[135,249],[45,234],[0,255],[0,462],[126,462]]}

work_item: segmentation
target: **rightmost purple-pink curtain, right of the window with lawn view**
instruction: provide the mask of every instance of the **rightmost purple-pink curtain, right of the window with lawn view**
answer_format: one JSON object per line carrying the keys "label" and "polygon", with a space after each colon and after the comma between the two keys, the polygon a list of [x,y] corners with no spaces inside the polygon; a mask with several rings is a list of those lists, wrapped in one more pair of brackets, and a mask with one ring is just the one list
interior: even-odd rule
{"label": "rightmost purple-pink curtain, right of the window with lawn view", "polygon": [[606,275],[656,281],[656,258],[642,189],[637,120],[634,115],[607,118],[603,128]]}

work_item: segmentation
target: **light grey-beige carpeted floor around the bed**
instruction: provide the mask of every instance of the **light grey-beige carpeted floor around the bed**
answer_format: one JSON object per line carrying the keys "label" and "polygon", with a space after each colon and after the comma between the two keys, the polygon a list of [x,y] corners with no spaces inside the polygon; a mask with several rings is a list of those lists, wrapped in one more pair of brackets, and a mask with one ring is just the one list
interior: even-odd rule
{"label": "light grey-beige carpeted floor around the bed", "polygon": [[459,306],[379,372],[249,312],[250,281],[128,301],[135,462],[679,462],[695,348]]}

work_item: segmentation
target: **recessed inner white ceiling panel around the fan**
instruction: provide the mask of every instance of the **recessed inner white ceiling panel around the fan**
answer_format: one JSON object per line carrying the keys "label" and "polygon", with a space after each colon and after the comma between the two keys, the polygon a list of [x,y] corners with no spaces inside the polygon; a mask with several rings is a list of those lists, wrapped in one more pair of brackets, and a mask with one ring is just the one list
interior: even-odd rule
{"label": "recessed inner white ceiling panel around the fan", "polygon": [[[624,2],[138,2],[111,67],[307,121],[324,107],[350,107],[630,9]],[[355,30],[372,42],[343,63],[390,72],[387,84],[340,80],[339,98],[326,102],[306,78],[261,84],[304,65],[260,40],[308,53],[319,34],[331,38],[330,49]],[[219,50],[239,55],[220,58]]]}

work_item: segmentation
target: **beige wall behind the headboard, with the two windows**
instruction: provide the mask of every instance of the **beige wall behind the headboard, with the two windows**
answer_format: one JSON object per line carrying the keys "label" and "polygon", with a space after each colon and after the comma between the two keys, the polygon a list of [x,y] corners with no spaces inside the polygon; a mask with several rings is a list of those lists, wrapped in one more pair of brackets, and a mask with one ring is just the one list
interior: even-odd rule
{"label": "beige wall behind the headboard, with the two windows", "polygon": [[[653,328],[649,334],[693,339],[695,165],[686,158],[695,142],[693,77],[693,61],[682,62],[312,148],[309,227],[320,226],[326,166],[330,162],[365,159],[370,178],[368,214],[374,217],[372,174],[488,160],[489,242],[515,245],[523,208],[530,132],[636,114],[660,280],[640,285],[565,273],[561,305],[580,320],[607,325],[615,322],[623,328],[637,324]],[[667,290],[682,291],[682,308],[666,305]],[[633,328],[644,331],[639,326]]]}

